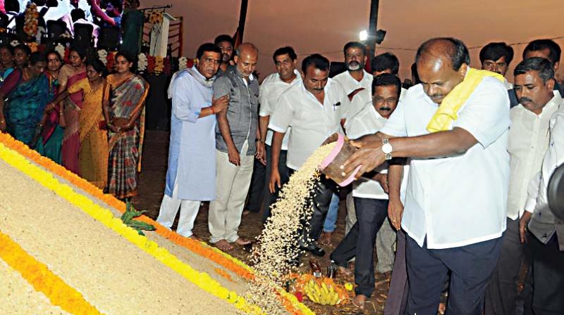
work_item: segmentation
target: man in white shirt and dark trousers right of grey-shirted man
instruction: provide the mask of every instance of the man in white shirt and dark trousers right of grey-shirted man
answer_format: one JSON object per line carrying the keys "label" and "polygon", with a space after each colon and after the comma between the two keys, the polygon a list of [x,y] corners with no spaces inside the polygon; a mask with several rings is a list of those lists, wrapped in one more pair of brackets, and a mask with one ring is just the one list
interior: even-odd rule
{"label": "man in white shirt and dark trousers right of grey-shirted man", "polygon": [[[276,73],[266,77],[260,86],[260,110],[259,110],[259,125],[261,132],[261,139],[266,139],[266,183],[264,184],[264,201],[262,203],[263,221],[270,217],[270,205],[278,198],[278,187],[275,188],[274,193],[269,191],[270,174],[272,170],[272,135],[274,131],[269,130],[270,115],[274,113],[278,105],[278,98],[280,98],[283,91],[293,84],[302,84],[302,75],[296,70],[296,56],[292,47],[286,46],[276,49],[274,51],[274,65],[276,65]],[[288,153],[288,138],[290,132],[286,131],[282,139],[282,146],[280,157],[278,158],[278,175],[280,176],[281,184],[286,184],[289,179],[288,167],[286,167],[286,153]],[[262,186],[261,186],[262,187]]]}

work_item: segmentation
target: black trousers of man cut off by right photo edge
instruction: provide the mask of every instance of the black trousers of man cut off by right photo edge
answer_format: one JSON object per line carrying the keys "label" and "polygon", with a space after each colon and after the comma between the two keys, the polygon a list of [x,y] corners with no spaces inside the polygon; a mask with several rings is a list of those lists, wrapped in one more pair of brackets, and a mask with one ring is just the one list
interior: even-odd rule
{"label": "black trousers of man cut off by right photo edge", "polygon": [[534,315],[564,314],[564,252],[558,249],[556,233],[548,243],[541,243],[529,233],[532,253]]}

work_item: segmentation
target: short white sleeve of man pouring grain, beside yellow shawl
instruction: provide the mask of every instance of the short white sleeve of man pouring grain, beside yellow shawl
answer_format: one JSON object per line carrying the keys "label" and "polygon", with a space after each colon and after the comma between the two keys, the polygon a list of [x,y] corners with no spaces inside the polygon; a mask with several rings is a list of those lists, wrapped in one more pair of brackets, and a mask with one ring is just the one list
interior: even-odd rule
{"label": "short white sleeve of man pouring grain, beside yellow shawl", "polygon": [[459,112],[453,128],[470,132],[482,147],[494,143],[510,125],[507,89],[498,79],[486,77]]}

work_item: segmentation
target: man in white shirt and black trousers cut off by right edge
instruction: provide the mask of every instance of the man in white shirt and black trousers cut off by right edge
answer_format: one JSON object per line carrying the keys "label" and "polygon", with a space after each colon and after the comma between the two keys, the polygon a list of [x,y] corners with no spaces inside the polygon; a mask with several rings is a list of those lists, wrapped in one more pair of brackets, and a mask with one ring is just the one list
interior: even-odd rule
{"label": "man in white shirt and black trousers cut off by right edge", "polygon": [[[519,97],[520,91],[515,91]],[[529,183],[519,233],[532,254],[532,311],[556,315],[564,314],[564,222],[548,207],[547,188],[553,172],[564,163],[564,105],[552,115],[548,134],[548,150],[540,172]]]}

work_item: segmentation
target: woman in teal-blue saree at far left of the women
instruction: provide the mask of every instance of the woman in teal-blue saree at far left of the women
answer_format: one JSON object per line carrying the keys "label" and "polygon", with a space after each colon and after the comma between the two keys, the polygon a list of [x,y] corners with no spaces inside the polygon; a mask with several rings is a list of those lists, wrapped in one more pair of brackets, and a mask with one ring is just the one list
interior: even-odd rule
{"label": "woman in teal-blue saree at far left of the women", "polygon": [[[49,81],[44,75],[47,62],[43,53],[32,53],[31,65],[14,70],[0,88],[0,130],[31,145],[43,117],[47,101],[52,98]],[[6,106],[4,98],[8,96]]]}

